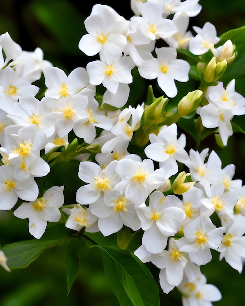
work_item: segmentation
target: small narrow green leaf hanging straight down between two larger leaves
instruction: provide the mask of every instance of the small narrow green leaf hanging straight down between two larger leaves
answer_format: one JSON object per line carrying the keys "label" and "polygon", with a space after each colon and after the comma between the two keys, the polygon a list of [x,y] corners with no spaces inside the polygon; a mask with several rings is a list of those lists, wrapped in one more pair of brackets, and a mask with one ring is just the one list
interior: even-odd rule
{"label": "small narrow green leaf hanging straight down between two larger leaves", "polygon": [[80,240],[78,237],[72,238],[68,243],[66,271],[67,271],[67,296],[75,282],[80,269]]}

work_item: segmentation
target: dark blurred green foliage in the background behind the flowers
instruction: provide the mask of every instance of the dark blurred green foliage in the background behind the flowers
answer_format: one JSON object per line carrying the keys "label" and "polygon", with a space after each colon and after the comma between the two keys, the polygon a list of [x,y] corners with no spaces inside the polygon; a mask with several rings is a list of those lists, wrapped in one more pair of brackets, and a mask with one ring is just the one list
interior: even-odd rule
{"label": "dark blurred green foliage in the background behind the flowers", "polygon": [[[126,3],[125,3],[126,2]],[[40,47],[44,51],[44,58],[70,72],[78,66],[86,66],[93,60],[88,58],[78,49],[78,42],[85,34],[84,19],[89,16],[95,0],[0,0],[0,33],[8,31],[11,37],[23,50],[33,51]],[[130,1],[100,1],[101,4],[112,6],[125,18],[130,18]],[[245,2],[241,0],[200,0],[203,5],[201,13],[191,19],[191,25],[202,27],[205,22],[213,23],[218,35],[241,27],[245,24]],[[137,75],[134,76],[137,78]],[[179,84],[181,92],[185,92],[185,84]],[[134,85],[135,86],[135,85]],[[142,86],[140,86],[142,87]],[[245,96],[244,75],[236,78],[237,91]],[[189,88],[189,87],[188,87]],[[137,88],[132,93],[132,99],[140,99]],[[185,94],[185,93],[184,93]],[[183,96],[183,95],[182,95]],[[244,118],[236,119],[244,120]],[[190,139],[187,150],[192,147]],[[241,133],[234,134],[229,139],[228,146],[220,149],[214,145],[213,136],[207,137],[203,145],[213,147],[223,161],[223,166],[229,163],[236,165],[236,177],[244,179],[245,163],[245,138]],[[67,164],[62,165],[64,175],[67,175]],[[70,167],[70,166],[69,166]],[[77,165],[73,164],[74,177]],[[60,170],[61,168],[59,168]],[[53,177],[56,184],[62,184],[60,172],[53,169],[47,176],[46,184],[49,185]],[[70,192],[79,185],[77,178],[70,180],[67,186],[67,197],[74,201]],[[28,221],[13,217],[12,212],[0,212],[0,242],[6,243],[32,239],[28,233]],[[11,226],[11,225],[14,226]],[[129,245],[130,250],[138,246],[140,233],[134,236]],[[94,239],[94,236],[93,236]],[[101,234],[96,234],[95,239],[102,240]],[[107,246],[116,243],[116,235],[107,238]],[[81,251],[79,253],[80,270],[74,270],[68,280],[68,291],[78,273],[70,294],[67,297],[66,279],[66,245],[55,246],[43,252],[40,257],[32,262],[26,269],[13,270],[11,273],[0,269],[0,305],[1,306],[117,306],[119,305],[115,294],[107,282],[103,270],[101,252],[97,248],[88,248],[85,239],[79,240]],[[222,292],[223,299],[214,303],[216,306],[241,306],[244,305],[243,287],[245,272],[239,275],[237,271],[226,264],[219,262],[219,255],[213,252],[212,262],[202,267],[207,276],[208,283],[216,285]],[[159,270],[152,264],[147,264],[158,283]],[[70,267],[72,269],[72,267]],[[181,296],[177,290],[169,295],[160,292],[161,305],[181,305]]]}

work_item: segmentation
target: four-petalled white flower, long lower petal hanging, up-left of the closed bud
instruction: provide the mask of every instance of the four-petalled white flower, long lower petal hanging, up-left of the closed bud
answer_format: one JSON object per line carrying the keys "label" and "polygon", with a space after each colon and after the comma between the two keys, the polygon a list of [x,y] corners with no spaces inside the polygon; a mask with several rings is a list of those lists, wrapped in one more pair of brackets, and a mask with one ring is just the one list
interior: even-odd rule
{"label": "four-petalled white flower, long lower petal hanging, up-left of the closed bud", "polygon": [[177,59],[176,49],[162,47],[156,48],[157,59],[144,61],[139,67],[139,74],[145,79],[156,79],[161,89],[169,97],[177,95],[175,81],[187,82],[190,64]]}

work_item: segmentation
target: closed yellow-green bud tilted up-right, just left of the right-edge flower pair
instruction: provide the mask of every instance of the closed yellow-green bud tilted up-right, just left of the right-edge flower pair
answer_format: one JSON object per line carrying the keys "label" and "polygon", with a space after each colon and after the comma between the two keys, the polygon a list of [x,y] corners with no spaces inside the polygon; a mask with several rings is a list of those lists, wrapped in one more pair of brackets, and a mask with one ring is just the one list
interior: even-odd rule
{"label": "closed yellow-green bud tilted up-right, just left of the right-edge flower pair", "polygon": [[183,97],[178,103],[178,114],[179,116],[186,116],[193,110],[197,109],[200,105],[202,98],[201,90],[194,90],[189,92],[185,97]]}

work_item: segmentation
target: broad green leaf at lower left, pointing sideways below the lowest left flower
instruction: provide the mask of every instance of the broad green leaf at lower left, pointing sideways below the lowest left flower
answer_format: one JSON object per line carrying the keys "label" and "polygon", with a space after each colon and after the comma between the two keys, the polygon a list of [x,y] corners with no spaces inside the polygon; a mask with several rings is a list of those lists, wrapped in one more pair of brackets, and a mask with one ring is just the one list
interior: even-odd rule
{"label": "broad green leaf at lower left, pointing sideways below the lowest left flower", "polygon": [[62,245],[71,233],[64,224],[57,224],[46,230],[40,239],[18,241],[4,245],[1,250],[7,257],[10,269],[26,268],[46,249]]}

